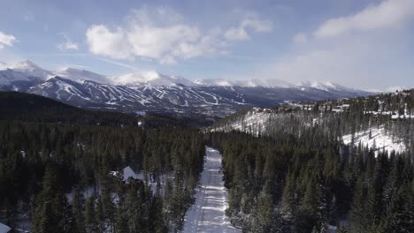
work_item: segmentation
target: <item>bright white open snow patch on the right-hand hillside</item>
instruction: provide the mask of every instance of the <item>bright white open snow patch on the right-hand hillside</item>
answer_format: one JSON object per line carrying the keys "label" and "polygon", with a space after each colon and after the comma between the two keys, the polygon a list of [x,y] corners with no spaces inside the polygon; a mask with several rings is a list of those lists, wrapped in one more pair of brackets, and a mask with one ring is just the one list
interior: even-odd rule
{"label": "bright white open snow patch on the right-hand hillside", "polygon": [[[344,144],[350,144],[352,134],[342,136],[342,140]],[[369,130],[357,132],[354,135],[354,145],[358,146],[359,143],[369,148],[373,148],[375,145],[375,154],[378,154],[379,151],[387,151],[388,154],[392,151],[403,153],[407,149],[402,139],[393,139],[390,135],[386,134],[384,127],[372,127]]]}

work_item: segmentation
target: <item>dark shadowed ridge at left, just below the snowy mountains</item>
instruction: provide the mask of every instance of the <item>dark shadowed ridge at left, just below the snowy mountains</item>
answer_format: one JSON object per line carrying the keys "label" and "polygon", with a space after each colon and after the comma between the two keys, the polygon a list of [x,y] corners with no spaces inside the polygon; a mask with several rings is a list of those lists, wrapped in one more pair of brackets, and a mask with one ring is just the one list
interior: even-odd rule
{"label": "dark shadowed ridge at left, just below the snowy mountains", "polygon": [[[136,116],[105,110],[80,109],[60,101],[37,94],[0,92],[0,120],[20,120],[29,122],[167,127],[204,127],[215,120],[205,116],[167,116],[149,113]],[[140,125],[138,125],[140,123]]]}

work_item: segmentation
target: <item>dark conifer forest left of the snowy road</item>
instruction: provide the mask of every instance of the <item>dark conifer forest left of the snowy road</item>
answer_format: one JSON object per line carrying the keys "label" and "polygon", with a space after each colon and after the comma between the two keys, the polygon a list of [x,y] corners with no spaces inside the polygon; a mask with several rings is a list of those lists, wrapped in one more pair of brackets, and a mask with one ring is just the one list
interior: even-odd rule
{"label": "dark conifer forest left of the snowy road", "polygon": [[[172,126],[173,119],[162,116],[87,111],[35,95],[1,93],[0,103],[2,222],[31,225],[33,232],[180,229],[203,169],[197,129]],[[142,119],[150,124],[138,126]],[[125,182],[111,175],[126,166],[145,178]]]}

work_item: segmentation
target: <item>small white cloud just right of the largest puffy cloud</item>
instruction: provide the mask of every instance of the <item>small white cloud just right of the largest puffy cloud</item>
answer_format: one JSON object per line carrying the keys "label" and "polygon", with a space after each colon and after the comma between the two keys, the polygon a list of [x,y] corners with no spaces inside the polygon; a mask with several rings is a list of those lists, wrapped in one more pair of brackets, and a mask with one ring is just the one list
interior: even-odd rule
{"label": "small white cloud just right of the largest puffy cloud", "polygon": [[248,30],[256,33],[268,33],[272,31],[272,22],[265,19],[259,19],[257,14],[248,13],[242,20],[240,26],[230,27],[225,34],[228,41],[249,41]]}

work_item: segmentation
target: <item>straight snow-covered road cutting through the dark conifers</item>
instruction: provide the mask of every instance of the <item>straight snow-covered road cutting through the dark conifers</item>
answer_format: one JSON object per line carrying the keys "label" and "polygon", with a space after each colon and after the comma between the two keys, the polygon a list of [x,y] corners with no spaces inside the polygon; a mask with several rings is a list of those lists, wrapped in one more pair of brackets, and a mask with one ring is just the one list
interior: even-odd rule
{"label": "straight snow-covered road cutting through the dark conifers", "polygon": [[183,233],[242,232],[226,216],[227,190],[224,186],[219,151],[206,147],[206,161],[196,188],[196,202],[188,209]]}

